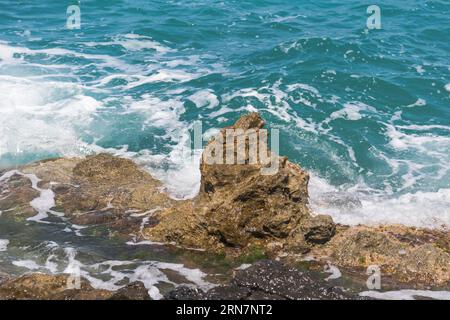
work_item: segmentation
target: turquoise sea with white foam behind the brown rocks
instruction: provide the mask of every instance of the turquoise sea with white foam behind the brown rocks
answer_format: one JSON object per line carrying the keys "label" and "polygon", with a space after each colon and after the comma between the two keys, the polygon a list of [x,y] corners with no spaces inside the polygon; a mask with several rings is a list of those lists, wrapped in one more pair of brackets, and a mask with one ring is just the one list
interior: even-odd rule
{"label": "turquoise sea with white foam behind the brown rocks", "polygon": [[[78,4],[81,28],[66,28]],[[0,163],[108,151],[178,198],[182,151],[258,110],[344,223],[450,225],[450,3],[0,0]]]}

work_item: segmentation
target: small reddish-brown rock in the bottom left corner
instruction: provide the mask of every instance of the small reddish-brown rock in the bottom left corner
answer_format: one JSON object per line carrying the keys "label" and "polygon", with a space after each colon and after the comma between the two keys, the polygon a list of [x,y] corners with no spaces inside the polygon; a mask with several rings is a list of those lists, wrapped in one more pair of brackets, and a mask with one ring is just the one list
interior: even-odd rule
{"label": "small reddish-brown rock in the bottom left corner", "polygon": [[68,289],[68,275],[26,274],[0,284],[0,300],[92,300],[112,295],[97,290],[84,279],[80,289]]}

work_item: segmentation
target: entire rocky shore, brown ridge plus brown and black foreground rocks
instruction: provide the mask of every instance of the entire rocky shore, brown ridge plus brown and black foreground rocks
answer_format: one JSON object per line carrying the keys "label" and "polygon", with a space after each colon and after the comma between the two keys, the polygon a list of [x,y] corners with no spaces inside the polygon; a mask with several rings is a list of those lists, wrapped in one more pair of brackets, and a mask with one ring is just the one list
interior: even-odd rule
{"label": "entire rocky shore, brown ridge plus brown and black foreground rocks", "polygon": [[[231,129],[259,132],[263,126],[261,117],[251,113]],[[212,139],[208,146],[214,149],[217,143]],[[226,145],[223,150],[225,155]],[[333,264],[356,279],[367,278],[367,268],[377,265],[399,287],[449,290],[447,229],[337,225],[330,216],[310,210],[308,173],[285,157],[272,156],[279,170],[263,175],[265,164],[250,164],[248,153],[245,164],[208,164],[204,154],[200,192],[183,201],[173,200],[131,160],[98,154],[40,161],[0,172],[0,212],[18,221],[64,215],[76,225],[104,226],[110,237],[197,248],[228,259],[255,252],[269,258],[235,272],[228,285],[206,293],[178,287],[168,299],[358,297],[294,268],[305,260],[314,260],[313,269]],[[67,291],[66,280],[65,275],[43,274],[0,280],[0,298],[148,298],[139,283],[113,293],[88,282]]]}

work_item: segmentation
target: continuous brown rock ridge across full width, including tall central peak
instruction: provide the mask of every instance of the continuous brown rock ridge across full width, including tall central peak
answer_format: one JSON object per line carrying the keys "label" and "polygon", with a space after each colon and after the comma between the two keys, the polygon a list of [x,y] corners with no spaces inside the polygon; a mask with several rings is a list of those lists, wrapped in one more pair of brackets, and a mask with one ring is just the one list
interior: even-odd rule
{"label": "continuous brown rock ridge across full width, including tall central peak", "polygon": [[[251,113],[221,131],[227,137],[226,129],[234,130],[233,145],[245,141],[239,164],[211,163],[210,157],[224,162],[227,154],[234,159],[238,155],[237,149],[227,153],[231,148],[227,149],[226,138],[208,143],[200,167],[200,192],[193,200],[174,201],[159,181],[131,160],[99,154],[40,161],[9,175],[2,172],[0,211],[17,219],[31,217],[38,213],[33,199],[42,190],[51,190],[55,200],[51,210],[64,213],[75,224],[106,226],[115,235],[134,234],[231,256],[257,250],[295,263],[311,251],[323,262],[364,275],[365,268],[375,264],[383,275],[399,281],[450,285],[448,230],[336,226],[331,217],[313,214],[308,208],[307,172],[270,151],[264,156],[276,161],[274,174],[263,174],[268,164],[261,161],[261,151],[258,161],[251,161],[246,130],[258,135],[263,125],[261,117]],[[243,287],[239,287],[242,294]]]}

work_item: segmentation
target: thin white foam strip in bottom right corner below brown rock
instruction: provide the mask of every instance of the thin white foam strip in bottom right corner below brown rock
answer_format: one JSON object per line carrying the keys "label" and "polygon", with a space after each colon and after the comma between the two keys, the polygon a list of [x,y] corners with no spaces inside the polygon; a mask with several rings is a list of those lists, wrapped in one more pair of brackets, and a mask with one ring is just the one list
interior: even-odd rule
{"label": "thin white foam strip in bottom right corner below brown rock", "polygon": [[431,290],[397,290],[397,291],[364,291],[359,293],[362,297],[385,300],[415,300],[417,297],[425,297],[436,300],[450,300],[450,291]]}

